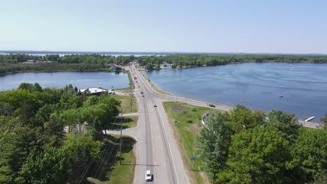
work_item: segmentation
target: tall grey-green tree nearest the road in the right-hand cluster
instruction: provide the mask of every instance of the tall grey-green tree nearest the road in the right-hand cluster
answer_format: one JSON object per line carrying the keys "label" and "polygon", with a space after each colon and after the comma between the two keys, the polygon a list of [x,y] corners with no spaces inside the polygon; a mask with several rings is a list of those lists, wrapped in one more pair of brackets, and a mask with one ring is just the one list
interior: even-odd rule
{"label": "tall grey-green tree nearest the road in the right-hand cluster", "polygon": [[196,149],[203,160],[203,169],[214,183],[216,174],[224,169],[231,144],[231,132],[224,121],[225,116],[221,112],[209,115],[196,137]]}

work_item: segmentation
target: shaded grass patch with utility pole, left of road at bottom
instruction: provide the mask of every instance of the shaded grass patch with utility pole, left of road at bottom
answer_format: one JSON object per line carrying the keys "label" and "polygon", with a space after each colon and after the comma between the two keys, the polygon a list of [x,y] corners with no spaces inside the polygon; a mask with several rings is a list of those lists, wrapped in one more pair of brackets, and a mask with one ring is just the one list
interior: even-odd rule
{"label": "shaded grass patch with utility pole, left of road at bottom", "polygon": [[109,135],[111,143],[116,145],[115,156],[108,162],[112,161],[112,165],[107,167],[106,178],[108,181],[101,181],[89,177],[87,180],[95,184],[105,183],[133,183],[134,170],[136,165],[136,158],[133,151],[133,145],[136,144],[136,140],[129,136],[123,137],[122,144],[122,164],[119,164],[119,136]]}

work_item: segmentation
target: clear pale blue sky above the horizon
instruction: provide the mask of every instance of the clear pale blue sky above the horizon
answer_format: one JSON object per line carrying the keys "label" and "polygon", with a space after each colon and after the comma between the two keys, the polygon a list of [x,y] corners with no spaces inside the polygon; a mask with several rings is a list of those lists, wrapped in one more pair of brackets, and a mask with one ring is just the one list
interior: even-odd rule
{"label": "clear pale blue sky above the horizon", "polygon": [[0,50],[327,54],[327,1],[1,0]]}

